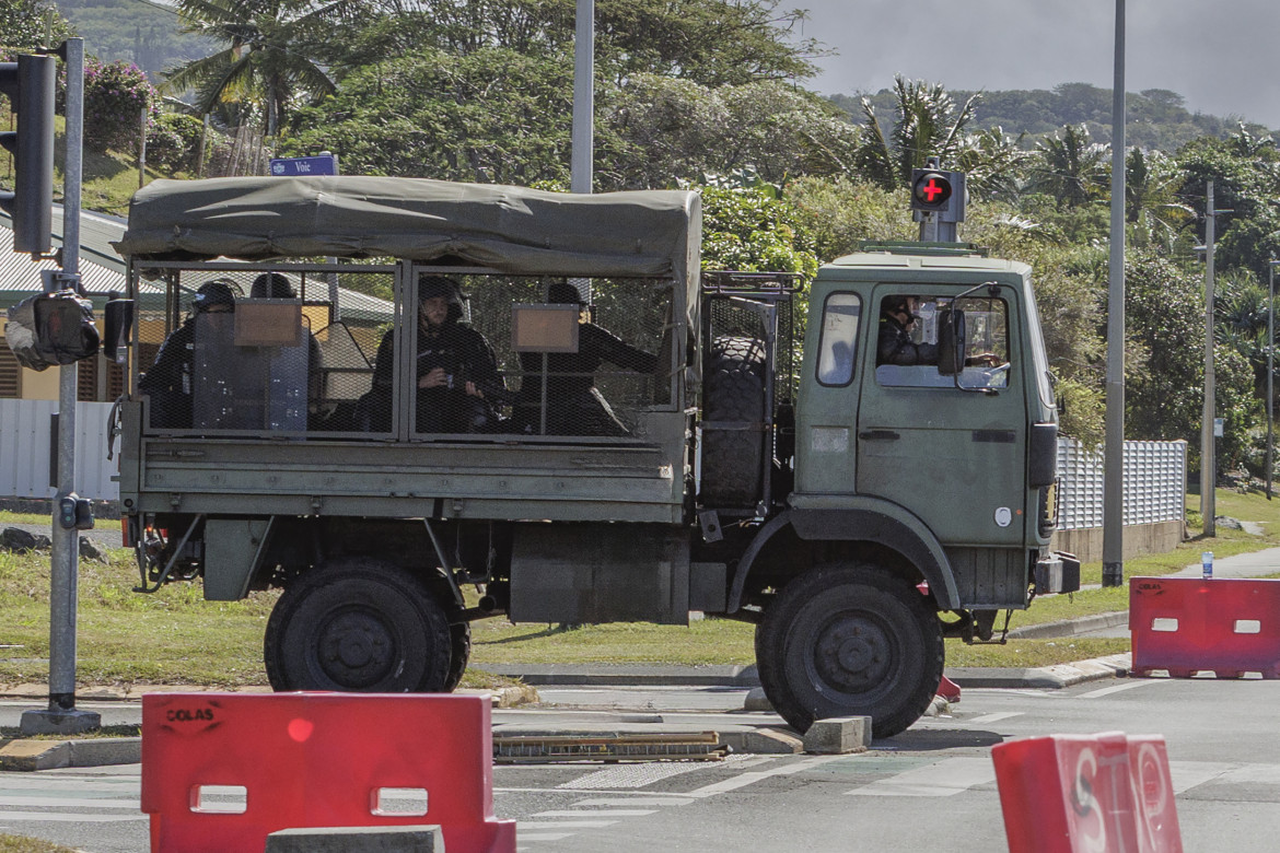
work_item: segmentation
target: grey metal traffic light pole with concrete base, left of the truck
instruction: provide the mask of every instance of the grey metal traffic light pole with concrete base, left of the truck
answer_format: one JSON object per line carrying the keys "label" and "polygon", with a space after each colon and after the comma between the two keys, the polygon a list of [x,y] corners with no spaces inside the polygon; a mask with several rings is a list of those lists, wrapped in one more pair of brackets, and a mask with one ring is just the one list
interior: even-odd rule
{"label": "grey metal traffic light pole with concrete base, left of the truck", "polygon": [[[67,132],[63,171],[61,275],[59,288],[79,280],[81,166],[84,133],[84,40],[68,38],[61,49],[67,64]],[[49,583],[49,707],[23,711],[23,734],[73,734],[99,729],[102,719],[76,707],[76,610],[79,575],[79,531],[59,523],[59,508],[76,491],[76,398],[78,363],[59,368],[58,496],[54,499],[52,558]]]}

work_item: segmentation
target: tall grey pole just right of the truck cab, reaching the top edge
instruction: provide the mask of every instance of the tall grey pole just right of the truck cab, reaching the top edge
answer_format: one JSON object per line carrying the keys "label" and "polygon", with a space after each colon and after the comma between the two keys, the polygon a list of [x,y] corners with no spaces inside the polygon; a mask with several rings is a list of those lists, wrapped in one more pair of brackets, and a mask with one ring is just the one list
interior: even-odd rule
{"label": "tall grey pole just right of the truck cab, reaching the top edge", "polygon": [[1124,0],[1116,0],[1111,87],[1111,261],[1107,284],[1107,411],[1102,455],[1102,586],[1124,583]]}

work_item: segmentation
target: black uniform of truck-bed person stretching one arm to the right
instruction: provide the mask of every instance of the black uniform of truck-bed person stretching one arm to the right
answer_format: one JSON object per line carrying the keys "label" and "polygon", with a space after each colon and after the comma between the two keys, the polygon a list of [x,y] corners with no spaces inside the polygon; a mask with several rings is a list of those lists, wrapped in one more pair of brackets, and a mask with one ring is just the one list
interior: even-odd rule
{"label": "black uniform of truck-bed person stretching one arm to the right", "polygon": [[[595,371],[604,362],[639,373],[653,373],[658,367],[657,356],[636,349],[595,324],[580,325],[576,353],[547,356],[547,435],[630,435],[595,387]],[[516,400],[516,427],[538,434],[541,426],[543,354],[521,353],[520,370],[525,376]]]}

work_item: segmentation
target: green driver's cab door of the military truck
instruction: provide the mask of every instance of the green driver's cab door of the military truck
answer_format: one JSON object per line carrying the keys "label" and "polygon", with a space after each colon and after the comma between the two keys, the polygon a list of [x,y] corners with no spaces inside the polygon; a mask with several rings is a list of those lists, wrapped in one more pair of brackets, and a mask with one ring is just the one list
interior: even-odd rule
{"label": "green driver's cab door of the military truck", "polygon": [[[861,361],[858,492],[928,519],[948,545],[1018,545],[1029,368],[1019,358],[1020,306],[1014,288],[955,301],[959,292],[904,285],[874,292],[879,326]],[[959,376],[938,367],[940,326],[954,309],[964,312],[966,326]]]}

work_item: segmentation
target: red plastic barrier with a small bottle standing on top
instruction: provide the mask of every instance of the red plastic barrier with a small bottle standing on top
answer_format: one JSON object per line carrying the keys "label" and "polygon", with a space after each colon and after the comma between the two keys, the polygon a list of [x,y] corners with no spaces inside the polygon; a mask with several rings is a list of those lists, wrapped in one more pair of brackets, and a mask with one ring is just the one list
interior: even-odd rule
{"label": "red plastic barrier with a small bottle standing on top", "polygon": [[1280,581],[1130,578],[1133,671],[1280,678]]}

